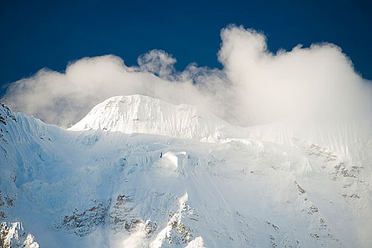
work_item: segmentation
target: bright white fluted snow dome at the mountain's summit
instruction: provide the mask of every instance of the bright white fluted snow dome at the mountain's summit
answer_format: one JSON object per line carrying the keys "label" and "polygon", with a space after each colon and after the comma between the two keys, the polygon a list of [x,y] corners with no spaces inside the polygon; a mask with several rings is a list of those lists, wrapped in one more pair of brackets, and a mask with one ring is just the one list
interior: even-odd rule
{"label": "bright white fluted snow dome at the mountain's summit", "polygon": [[95,106],[69,130],[149,133],[194,139],[219,138],[230,125],[194,106],[149,96],[115,96]]}

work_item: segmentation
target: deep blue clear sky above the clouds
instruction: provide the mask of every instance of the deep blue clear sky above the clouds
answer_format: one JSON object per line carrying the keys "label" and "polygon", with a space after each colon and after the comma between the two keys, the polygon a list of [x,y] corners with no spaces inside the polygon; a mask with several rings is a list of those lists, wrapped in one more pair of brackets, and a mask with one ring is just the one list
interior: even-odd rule
{"label": "deep blue clear sky above the clouds", "polygon": [[372,79],[368,1],[1,1],[0,95],[12,81],[86,56],[114,54],[132,65],[160,49],[180,70],[191,62],[221,68],[228,23],[261,30],[272,52],[335,43]]}

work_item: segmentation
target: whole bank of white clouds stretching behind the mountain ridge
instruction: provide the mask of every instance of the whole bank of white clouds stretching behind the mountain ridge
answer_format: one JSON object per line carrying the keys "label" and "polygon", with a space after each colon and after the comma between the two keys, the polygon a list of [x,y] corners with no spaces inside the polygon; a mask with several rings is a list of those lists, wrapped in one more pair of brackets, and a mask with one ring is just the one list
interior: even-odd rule
{"label": "whole bank of white clouds stretching behind the mountain ridge", "polygon": [[274,54],[265,35],[242,26],[223,28],[221,40],[223,69],[190,64],[178,72],[175,58],[162,50],[139,56],[134,67],[114,55],[86,57],[64,73],[41,69],[13,82],[1,101],[64,128],[106,98],[129,94],[190,103],[243,126],[372,117],[372,83],[336,45]]}

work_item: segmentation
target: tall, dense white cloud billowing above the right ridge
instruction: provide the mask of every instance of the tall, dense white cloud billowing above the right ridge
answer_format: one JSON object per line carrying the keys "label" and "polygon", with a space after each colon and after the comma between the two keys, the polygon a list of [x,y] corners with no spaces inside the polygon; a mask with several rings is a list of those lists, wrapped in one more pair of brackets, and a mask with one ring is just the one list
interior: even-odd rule
{"label": "tall, dense white cloud billowing above the right ridge", "polygon": [[274,55],[267,50],[265,36],[255,30],[228,27],[221,31],[221,38],[219,60],[232,83],[240,123],[351,118],[366,113],[366,106],[359,102],[367,100],[368,86],[336,45],[297,46]]}

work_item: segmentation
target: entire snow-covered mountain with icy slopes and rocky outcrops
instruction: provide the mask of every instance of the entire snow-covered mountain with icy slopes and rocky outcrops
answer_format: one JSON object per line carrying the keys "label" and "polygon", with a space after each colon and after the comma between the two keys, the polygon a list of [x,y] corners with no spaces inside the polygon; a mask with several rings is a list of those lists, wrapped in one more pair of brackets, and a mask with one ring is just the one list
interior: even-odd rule
{"label": "entire snow-covered mountain with icy slopes and rocky outcrops", "polygon": [[116,96],[64,130],[1,105],[0,244],[371,247],[371,151],[370,120],[240,128]]}

